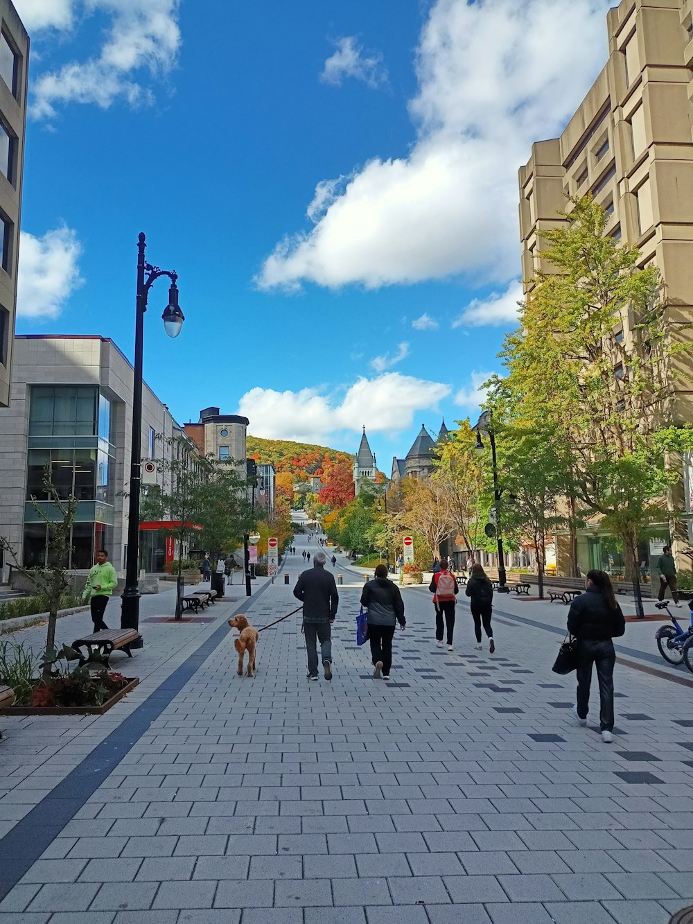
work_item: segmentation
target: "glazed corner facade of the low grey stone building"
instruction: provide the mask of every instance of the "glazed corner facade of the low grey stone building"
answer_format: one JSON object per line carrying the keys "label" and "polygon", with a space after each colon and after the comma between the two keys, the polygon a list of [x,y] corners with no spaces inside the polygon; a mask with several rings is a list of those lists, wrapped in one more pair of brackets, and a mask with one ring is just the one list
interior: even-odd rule
{"label": "glazed corner facade of the low grey stone building", "polygon": [[38,504],[55,516],[44,484],[46,467],[60,498],[74,494],[77,520],[67,567],[89,568],[94,553],[110,549],[114,523],[111,405],[94,385],[32,385],[30,388],[23,564],[48,559],[47,526]]}

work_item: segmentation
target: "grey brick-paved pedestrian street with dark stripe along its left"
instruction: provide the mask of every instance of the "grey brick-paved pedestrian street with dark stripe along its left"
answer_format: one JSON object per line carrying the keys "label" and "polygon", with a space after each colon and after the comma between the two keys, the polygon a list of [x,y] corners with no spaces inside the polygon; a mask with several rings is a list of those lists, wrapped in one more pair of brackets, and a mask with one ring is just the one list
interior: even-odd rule
{"label": "grey brick-paved pedestrian street with dark stripe along its left", "polygon": [[[490,656],[463,600],[451,653],[428,590],[407,589],[385,683],[342,567],[332,683],[306,680],[298,617],[238,677],[225,620],[293,609],[302,568],[211,623],[143,624],[134,663],[114,659],[142,683],[105,716],[0,720],[0,874],[17,881],[0,924],[665,924],[693,904],[693,676],[659,658],[658,624],[617,639],[633,666],[616,665],[605,745],[595,690],[589,727],[568,721],[574,676],[550,670],[567,611],[547,602],[496,595]],[[84,617],[67,618],[71,640]]]}

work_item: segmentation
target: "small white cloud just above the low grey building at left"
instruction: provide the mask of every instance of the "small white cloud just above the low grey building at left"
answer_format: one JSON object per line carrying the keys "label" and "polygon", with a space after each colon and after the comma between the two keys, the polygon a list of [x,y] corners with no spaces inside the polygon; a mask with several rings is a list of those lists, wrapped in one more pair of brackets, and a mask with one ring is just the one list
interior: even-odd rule
{"label": "small white cloud just above the low grey building at left", "polygon": [[79,275],[81,245],[63,225],[43,237],[21,232],[17,314],[24,318],[57,318],[64,302],[84,280]]}

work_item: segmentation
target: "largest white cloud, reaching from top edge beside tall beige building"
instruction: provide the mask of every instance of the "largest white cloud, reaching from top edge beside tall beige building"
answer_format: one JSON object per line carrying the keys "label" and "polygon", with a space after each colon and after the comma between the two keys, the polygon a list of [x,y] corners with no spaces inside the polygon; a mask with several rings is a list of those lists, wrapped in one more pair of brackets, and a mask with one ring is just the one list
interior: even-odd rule
{"label": "largest white cloud, reaching from top edge beside tall beige building", "polygon": [[[517,273],[517,167],[572,116],[606,60],[612,0],[437,0],[421,32],[418,135],[374,157],[264,261],[261,288],[377,288]],[[570,41],[566,41],[570,36]],[[331,181],[322,181],[329,184]]]}

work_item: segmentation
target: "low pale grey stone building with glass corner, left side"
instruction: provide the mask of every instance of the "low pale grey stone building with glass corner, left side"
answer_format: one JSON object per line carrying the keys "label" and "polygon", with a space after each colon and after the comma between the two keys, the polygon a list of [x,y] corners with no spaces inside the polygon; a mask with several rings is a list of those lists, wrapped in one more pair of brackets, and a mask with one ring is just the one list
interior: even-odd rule
{"label": "low pale grey stone building with glass corner, left side", "polygon": [[[47,464],[55,488],[79,501],[68,565],[89,568],[94,551],[105,547],[116,571],[125,568],[133,376],[128,359],[103,337],[15,337],[11,402],[0,407],[0,534],[13,543],[21,565],[43,565],[48,554],[46,526],[31,502],[33,496],[52,506],[43,489]],[[170,457],[176,451],[170,437],[179,435],[168,408],[145,384],[143,458]],[[162,465],[156,477],[167,490],[169,467]],[[163,559],[159,565],[152,569],[163,570]]]}

